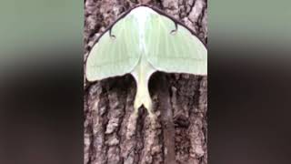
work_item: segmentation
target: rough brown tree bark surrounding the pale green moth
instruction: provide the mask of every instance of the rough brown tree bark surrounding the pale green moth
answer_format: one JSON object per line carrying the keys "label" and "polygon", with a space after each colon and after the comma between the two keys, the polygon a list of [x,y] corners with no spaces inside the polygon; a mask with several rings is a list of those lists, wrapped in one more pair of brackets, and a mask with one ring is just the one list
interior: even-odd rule
{"label": "rough brown tree bark surrounding the pale green moth", "polygon": [[[148,0],[147,0],[148,1]],[[137,3],[136,3],[137,4]],[[118,15],[136,5],[129,0],[85,0],[85,59],[95,40]],[[206,42],[206,0],[152,0]],[[85,81],[85,164],[207,163],[207,77],[157,72],[149,89],[156,122],[134,110],[130,75]]]}

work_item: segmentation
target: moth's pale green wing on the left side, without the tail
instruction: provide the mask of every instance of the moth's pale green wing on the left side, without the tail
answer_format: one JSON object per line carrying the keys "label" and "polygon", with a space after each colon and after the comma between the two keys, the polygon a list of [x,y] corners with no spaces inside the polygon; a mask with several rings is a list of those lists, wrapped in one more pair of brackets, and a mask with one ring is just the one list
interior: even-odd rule
{"label": "moth's pale green wing on the left side, without the tail", "polygon": [[85,75],[88,81],[106,77],[123,76],[131,72],[140,58],[139,38],[135,17],[125,15],[105,32],[93,46],[86,61]]}

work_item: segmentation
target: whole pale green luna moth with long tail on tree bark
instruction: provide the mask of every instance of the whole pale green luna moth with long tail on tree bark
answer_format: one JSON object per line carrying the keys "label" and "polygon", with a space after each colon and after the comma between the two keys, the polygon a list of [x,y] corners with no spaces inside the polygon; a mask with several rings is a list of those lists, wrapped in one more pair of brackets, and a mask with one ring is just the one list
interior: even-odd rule
{"label": "whole pale green luna moth with long tail on tree bark", "polygon": [[109,26],[86,60],[88,81],[131,74],[135,114],[142,105],[154,117],[148,81],[156,71],[207,75],[207,49],[194,32],[147,5],[137,6]]}

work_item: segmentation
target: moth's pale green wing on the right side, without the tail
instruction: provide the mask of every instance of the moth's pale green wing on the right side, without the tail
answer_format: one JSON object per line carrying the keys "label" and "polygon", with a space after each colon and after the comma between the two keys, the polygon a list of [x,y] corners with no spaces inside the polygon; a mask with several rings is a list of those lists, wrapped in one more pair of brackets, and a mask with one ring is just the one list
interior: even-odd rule
{"label": "moth's pale green wing on the right side, without the tail", "polygon": [[156,13],[147,18],[146,57],[157,70],[207,75],[206,46],[184,26]]}

